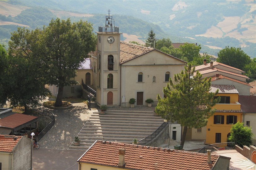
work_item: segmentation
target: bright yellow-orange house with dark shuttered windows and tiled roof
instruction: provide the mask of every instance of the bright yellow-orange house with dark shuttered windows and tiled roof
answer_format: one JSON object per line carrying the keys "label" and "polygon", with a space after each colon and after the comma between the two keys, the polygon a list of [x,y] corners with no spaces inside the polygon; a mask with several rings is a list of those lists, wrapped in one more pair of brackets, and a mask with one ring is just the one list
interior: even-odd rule
{"label": "bright yellow-orange house with dark shuttered windows and tiled roof", "polygon": [[[221,97],[216,104],[216,112],[208,119],[205,143],[227,142],[232,124],[242,122],[241,104],[238,102],[238,91],[233,85],[211,85],[210,92],[219,89]],[[217,97],[216,96],[216,97]]]}

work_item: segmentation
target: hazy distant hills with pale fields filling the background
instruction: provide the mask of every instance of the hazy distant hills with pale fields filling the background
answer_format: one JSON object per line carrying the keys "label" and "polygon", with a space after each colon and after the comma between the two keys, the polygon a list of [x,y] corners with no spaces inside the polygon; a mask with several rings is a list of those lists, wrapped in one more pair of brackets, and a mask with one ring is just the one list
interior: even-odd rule
{"label": "hazy distant hills with pale fields filling the background", "polygon": [[121,32],[141,37],[142,41],[152,28],[156,39],[169,37],[173,43],[198,43],[201,52],[208,54],[217,55],[220,49],[230,46],[241,47],[256,57],[255,0],[0,1],[0,43],[8,42],[10,32],[17,30],[15,23],[34,29],[57,17],[88,20],[97,32],[98,26],[105,24],[108,10]]}

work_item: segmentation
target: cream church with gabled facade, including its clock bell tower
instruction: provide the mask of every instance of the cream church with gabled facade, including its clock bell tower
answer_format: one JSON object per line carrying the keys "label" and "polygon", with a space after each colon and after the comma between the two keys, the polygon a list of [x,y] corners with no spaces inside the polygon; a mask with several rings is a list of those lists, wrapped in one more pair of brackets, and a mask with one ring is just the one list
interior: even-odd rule
{"label": "cream church with gabled facade, including its clock bell tower", "polygon": [[[147,105],[153,99],[157,105],[157,94],[164,97],[163,87],[175,74],[184,70],[186,62],[157,49],[120,41],[122,33],[115,26],[112,15],[105,16],[105,25],[99,26],[97,50],[85,59],[74,78],[80,85],[64,88],[63,97],[75,94],[75,88],[85,85],[96,91],[97,105],[130,107]],[[56,89],[56,90],[55,90]],[[57,88],[50,87],[53,95]],[[75,95],[74,95],[75,96]]]}

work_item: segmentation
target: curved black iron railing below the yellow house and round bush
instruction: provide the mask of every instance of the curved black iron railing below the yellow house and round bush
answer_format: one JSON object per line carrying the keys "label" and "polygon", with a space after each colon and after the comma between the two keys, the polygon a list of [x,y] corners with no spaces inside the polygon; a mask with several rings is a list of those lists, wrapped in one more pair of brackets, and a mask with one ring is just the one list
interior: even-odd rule
{"label": "curved black iron railing below the yellow house and round bush", "polygon": [[226,143],[215,143],[212,145],[207,145],[200,149],[199,153],[207,153],[207,150],[214,151],[221,151],[221,150],[232,150],[235,149],[235,142],[226,142]]}

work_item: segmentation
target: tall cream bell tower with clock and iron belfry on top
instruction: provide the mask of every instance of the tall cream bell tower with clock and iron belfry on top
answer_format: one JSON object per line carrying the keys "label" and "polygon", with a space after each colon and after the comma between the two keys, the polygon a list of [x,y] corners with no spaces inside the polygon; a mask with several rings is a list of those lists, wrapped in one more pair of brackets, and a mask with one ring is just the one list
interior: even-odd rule
{"label": "tall cream bell tower with clock and iron belfry on top", "polygon": [[98,105],[120,106],[120,35],[110,11],[97,33]]}

